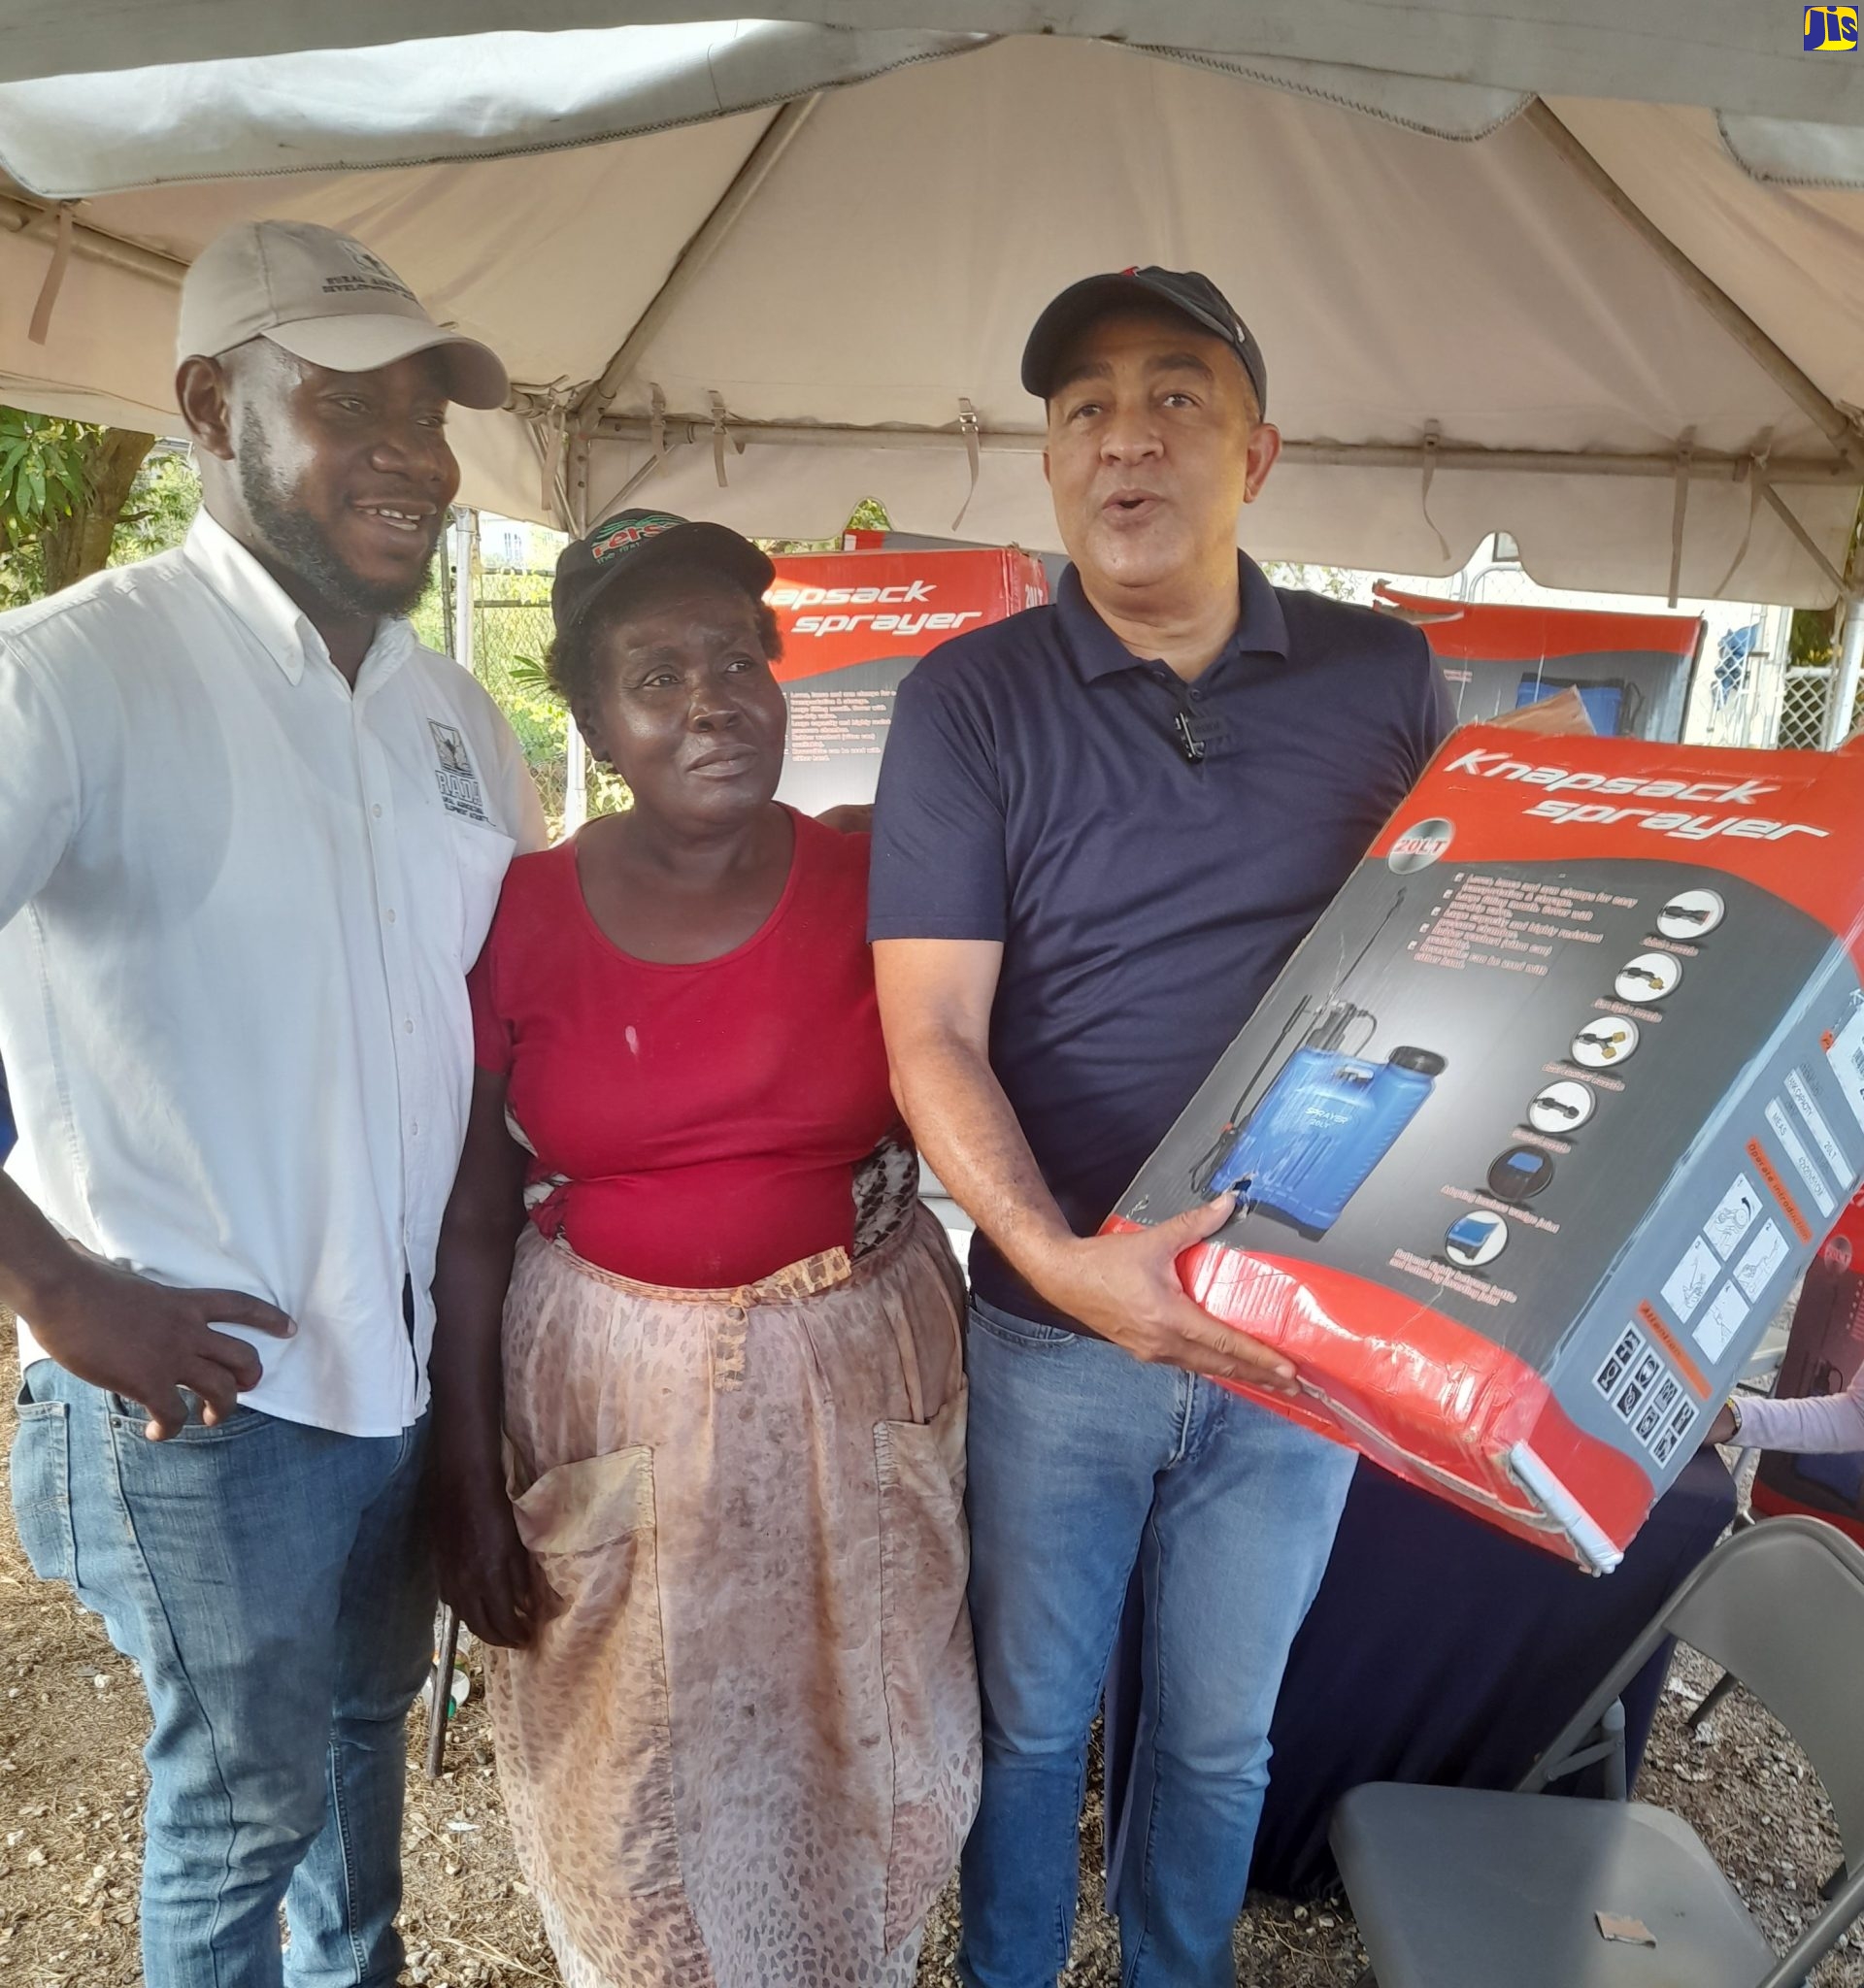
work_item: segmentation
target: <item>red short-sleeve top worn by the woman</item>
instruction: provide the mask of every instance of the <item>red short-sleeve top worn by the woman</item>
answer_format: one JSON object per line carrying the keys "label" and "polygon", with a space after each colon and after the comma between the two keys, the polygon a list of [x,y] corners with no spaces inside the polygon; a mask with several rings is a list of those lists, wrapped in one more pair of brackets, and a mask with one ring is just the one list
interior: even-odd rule
{"label": "red short-sleeve top worn by the woman", "polygon": [[481,1070],[564,1179],[533,1209],[646,1284],[755,1282],[854,1235],[853,1169],[894,1123],[866,950],[866,835],[795,819],[775,911],[715,960],[608,940],[574,843],[519,857],[471,974]]}

